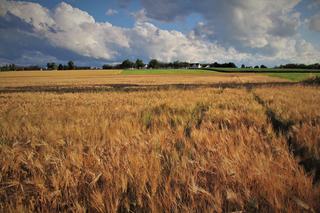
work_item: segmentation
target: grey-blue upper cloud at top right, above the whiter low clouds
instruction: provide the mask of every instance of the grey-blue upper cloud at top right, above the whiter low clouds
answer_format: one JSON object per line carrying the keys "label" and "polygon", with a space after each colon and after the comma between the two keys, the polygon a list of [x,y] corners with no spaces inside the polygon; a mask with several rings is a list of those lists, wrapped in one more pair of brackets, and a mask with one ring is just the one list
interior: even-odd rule
{"label": "grey-blue upper cloud at top right, above the whiter low clouds", "polygon": [[215,31],[212,40],[247,48],[264,48],[271,37],[287,37],[297,33],[299,13],[293,8],[299,0],[141,0],[146,16],[160,21],[175,21],[191,13],[204,17],[203,29]]}

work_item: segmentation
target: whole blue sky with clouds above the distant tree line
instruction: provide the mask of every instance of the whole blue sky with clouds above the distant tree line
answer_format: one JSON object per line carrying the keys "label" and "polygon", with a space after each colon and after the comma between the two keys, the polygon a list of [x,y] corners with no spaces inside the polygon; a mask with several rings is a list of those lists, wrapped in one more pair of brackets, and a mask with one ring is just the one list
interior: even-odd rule
{"label": "whole blue sky with clouds above the distant tree line", "polygon": [[320,0],[0,0],[0,64],[320,63]]}

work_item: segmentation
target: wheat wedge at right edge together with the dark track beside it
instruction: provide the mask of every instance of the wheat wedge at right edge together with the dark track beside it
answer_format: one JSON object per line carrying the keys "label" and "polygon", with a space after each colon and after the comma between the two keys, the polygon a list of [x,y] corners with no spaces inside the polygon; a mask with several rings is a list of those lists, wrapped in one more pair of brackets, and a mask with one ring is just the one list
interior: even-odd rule
{"label": "wheat wedge at right edge together with the dark track beside it", "polygon": [[[308,171],[320,180],[320,99],[319,90],[312,88],[282,88],[270,92],[260,89],[257,94],[265,101],[278,131],[285,131],[290,146]],[[308,94],[308,95],[303,95]],[[297,96],[301,98],[296,99]]]}

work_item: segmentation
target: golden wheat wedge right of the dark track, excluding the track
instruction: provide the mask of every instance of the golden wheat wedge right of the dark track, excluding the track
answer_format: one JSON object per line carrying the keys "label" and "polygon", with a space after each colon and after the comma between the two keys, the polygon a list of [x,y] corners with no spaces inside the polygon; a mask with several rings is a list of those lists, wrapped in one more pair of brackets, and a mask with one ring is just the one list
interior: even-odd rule
{"label": "golden wheat wedge right of the dark track, excluding the track", "polygon": [[291,124],[295,141],[320,159],[320,90],[312,87],[258,89],[280,120]]}

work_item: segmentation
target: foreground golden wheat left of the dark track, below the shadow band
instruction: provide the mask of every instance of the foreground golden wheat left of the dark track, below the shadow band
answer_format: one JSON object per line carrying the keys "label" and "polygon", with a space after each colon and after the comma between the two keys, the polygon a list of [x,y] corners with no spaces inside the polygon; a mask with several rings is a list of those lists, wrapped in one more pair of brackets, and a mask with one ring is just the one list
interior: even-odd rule
{"label": "foreground golden wheat left of the dark track, below the shadow band", "polygon": [[0,136],[0,211],[320,208],[244,89],[1,94]]}

